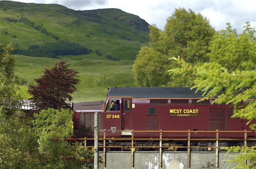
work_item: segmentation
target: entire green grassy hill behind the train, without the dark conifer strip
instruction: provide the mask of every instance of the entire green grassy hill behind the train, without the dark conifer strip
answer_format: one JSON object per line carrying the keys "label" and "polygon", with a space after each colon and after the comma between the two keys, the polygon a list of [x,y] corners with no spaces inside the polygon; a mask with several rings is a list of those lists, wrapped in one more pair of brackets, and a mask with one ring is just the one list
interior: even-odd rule
{"label": "entire green grassy hill behind the train, without the dark conifer strip", "polygon": [[[73,100],[101,100],[108,87],[133,86],[133,60],[140,47],[148,44],[148,23],[140,17],[119,9],[75,11],[58,4],[13,1],[0,1],[0,14],[0,43],[4,45],[12,42],[16,49],[27,50],[31,45],[41,48],[59,40],[92,50],[90,54],[58,56],[80,72],[79,91]],[[34,78],[60,61],[15,56],[16,73],[27,85],[35,84]]]}

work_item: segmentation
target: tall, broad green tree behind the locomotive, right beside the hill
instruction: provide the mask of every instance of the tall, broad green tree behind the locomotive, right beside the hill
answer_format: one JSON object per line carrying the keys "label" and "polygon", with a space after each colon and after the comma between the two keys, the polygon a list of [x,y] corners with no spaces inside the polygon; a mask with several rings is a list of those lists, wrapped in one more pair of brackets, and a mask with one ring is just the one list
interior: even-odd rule
{"label": "tall, broad green tree behind the locomotive, right beside the hill", "polygon": [[[175,67],[176,64],[172,61],[162,61],[162,58],[173,56],[181,56],[194,65],[207,62],[209,60],[206,55],[209,52],[208,45],[214,32],[209,20],[200,13],[196,14],[191,9],[187,11],[185,8],[175,9],[172,16],[167,19],[164,31],[158,29],[156,25],[149,26],[150,47],[140,49],[133,65],[135,83],[139,86],[175,85],[176,87],[193,84],[191,80],[193,77],[182,78],[181,76],[177,76],[170,83],[167,83],[167,71],[161,73],[155,71],[156,77],[153,77],[154,74],[152,74],[153,78],[147,83],[149,74],[145,74],[151,70],[147,65],[153,66],[154,70],[163,70],[163,67],[168,66]],[[146,49],[148,52],[145,52]],[[158,61],[157,57],[159,56],[161,57]],[[147,63],[150,57],[155,58],[155,65]]]}

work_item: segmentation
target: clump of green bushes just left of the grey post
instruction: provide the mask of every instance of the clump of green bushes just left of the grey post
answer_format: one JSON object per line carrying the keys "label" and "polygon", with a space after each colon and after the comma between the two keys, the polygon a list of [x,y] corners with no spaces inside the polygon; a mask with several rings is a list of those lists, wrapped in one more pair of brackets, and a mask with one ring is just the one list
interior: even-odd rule
{"label": "clump of green bushes just left of the grey post", "polygon": [[[71,111],[61,109],[60,111],[49,108],[34,115],[34,129],[38,136],[38,149],[47,151],[49,161],[44,164],[45,168],[86,168],[86,163],[80,162],[85,158],[92,157],[92,151],[87,150],[80,143],[71,145],[67,141],[59,140],[58,144],[53,138],[63,138],[72,133]],[[67,161],[61,157],[72,157],[76,160]]]}

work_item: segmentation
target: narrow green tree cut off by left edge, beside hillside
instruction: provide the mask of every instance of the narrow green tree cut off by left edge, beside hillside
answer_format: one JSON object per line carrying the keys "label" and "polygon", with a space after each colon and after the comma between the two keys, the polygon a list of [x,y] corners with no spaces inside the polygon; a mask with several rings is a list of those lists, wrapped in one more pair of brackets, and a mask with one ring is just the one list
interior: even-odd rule
{"label": "narrow green tree cut off by left edge, beside hillside", "polygon": [[17,88],[18,78],[14,74],[15,57],[12,55],[12,44],[0,44],[0,103],[13,99]]}

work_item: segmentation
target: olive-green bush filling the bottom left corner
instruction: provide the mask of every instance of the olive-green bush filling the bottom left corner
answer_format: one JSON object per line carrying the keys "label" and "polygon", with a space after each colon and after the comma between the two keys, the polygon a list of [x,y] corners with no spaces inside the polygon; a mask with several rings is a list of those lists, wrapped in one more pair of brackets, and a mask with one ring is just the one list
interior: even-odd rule
{"label": "olive-green bush filling the bottom left corner", "polygon": [[26,168],[25,152],[36,151],[36,137],[31,130],[29,119],[21,119],[22,112],[6,116],[8,112],[0,110],[0,168]]}

